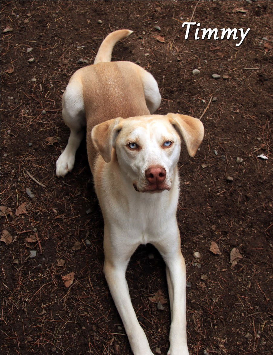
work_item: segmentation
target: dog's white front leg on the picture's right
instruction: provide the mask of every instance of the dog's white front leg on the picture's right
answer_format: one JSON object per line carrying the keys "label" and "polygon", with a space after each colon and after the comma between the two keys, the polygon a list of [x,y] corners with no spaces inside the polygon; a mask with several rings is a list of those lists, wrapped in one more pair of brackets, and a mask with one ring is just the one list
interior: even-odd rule
{"label": "dog's white front leg on the picture's right", "polygon": [[[170,228],[174,230],[174,228]],[[171,327],[168,355],[189,355],[186,331],[186,266],[180,249],[179,231],[154,243],[166,263]]]}

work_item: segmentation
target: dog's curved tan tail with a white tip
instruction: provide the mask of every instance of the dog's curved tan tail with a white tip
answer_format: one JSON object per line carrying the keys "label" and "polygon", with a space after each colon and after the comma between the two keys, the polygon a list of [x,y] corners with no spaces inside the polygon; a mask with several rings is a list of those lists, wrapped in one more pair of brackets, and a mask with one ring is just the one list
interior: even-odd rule
{"label": "dog's curved tan tail with a white tip", "polygon": [[99,47],[94,64],[99,62],[110,62],[114,45],[119,40],[128,37],[132,32],[133,31],[130,29],[119,29],[118,31],[108,34],[108,36],[105,37],[104,41]]}

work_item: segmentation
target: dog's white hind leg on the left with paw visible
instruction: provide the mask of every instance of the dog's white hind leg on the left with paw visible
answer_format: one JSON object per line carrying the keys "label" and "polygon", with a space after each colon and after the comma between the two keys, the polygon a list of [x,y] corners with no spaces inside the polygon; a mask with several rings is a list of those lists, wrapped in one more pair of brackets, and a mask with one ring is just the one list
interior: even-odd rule
{"label": "dog's white hind leg on the left with paw visible", "polygon": [[70,128],[70,136],[65,150],[56,162],[56,175],[64,177],[72,171],[75,163],[75,154],[82,141],[86,125],[82,87],[73,80],[67,85],[62,97],[62,118]]}

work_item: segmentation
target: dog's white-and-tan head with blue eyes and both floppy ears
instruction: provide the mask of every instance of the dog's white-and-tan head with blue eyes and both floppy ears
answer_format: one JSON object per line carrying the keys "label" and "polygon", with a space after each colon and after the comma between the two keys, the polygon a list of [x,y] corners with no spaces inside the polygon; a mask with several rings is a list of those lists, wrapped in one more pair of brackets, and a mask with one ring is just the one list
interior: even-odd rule
{"label": "dog's white-and-tan head with blue eyes and both floppy ears", "polygon": [[105,162],[115,149],[119,167],[136,191],[161,192],[171,189],[181,138],[193,157],[204,127],[197,118],[169,113],[108,120],[95,126],[91,135]]}

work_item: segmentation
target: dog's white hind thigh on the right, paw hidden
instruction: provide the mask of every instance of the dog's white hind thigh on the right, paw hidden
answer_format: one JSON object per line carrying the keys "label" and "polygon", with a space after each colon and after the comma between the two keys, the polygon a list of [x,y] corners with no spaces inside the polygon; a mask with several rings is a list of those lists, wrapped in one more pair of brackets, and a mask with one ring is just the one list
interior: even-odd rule
{"label": "dog's white hind thigh on the right, paw hidden", "polygon": [[140,67],[140,77],[144,89],[146,105],[151,114],[153,114],[160,105],[161,95],[158,85],[152,74]]}

